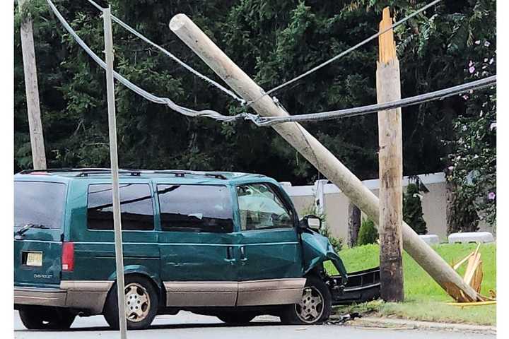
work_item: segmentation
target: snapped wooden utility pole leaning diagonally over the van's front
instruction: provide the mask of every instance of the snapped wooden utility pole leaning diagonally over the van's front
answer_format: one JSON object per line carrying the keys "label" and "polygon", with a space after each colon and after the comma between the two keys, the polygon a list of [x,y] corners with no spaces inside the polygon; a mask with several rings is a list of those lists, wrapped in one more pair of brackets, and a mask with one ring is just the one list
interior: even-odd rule
{"label": "snapped wooden utility pole leaning diagonally over the van's front", "polygon": [[[255,100],[264,93],[264,90],[235,65],[185,14],[174,16],[170,21],[170,29],[244,100]],[[252,107],[264,117],[288,115],[268,96],[254,102]],[[296,122],[286,122],[276,124],[273,128],[327,179],[334,182],[358,208],[373,220],[378,220],[379,206],[375,194],[303,126]],[[460,275],[406,224],[403,225],[403,239],[404,249],[452,297],[458,301],[477,299],[472,287],[465,284]]]}

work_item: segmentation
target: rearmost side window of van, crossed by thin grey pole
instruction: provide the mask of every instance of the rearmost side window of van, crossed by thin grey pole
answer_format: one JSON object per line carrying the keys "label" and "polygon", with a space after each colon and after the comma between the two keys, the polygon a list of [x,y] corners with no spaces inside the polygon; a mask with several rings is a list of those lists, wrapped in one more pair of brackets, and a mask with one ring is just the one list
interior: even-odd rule
{"label": "rearmost side window of van, crossed by thin grey pole", "polygon": [[[148,184],[120,184],[122,230],[148,231],[154,228],[152,195]],[[112,186],[88,186],[88,230],[113,230]]]}

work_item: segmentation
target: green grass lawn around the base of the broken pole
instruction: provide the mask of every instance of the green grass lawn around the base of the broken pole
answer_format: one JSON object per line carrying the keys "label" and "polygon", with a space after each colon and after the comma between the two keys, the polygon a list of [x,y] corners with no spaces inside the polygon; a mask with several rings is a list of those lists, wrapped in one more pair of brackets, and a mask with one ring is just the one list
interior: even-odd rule
{"label": "green grass lawn around the base of the broken pole", "polygon": [[[476,244],[440,244],[433,248],[445,258],[447,263],[454,265],[474,251]],[[484,272],[481,293],[488,295],[488,290],[496,290],[496,245],[483,244],[480,251]],[[347,271],[363,270],[378,266],[379,246],[373,244],[344,249],[339,255]],[[464,273],[464,266],[459,270],[461,275]],[[335,273],[335,268],[330,263],[326,263],[326,268],[330,273]],[[403,268],[404,303],[371,302],[358,305],[356,309],[374,311],[380,316],[399,316],[423,321],[495,324],[495,305],[463,309],[447,305],[445,302],[452,302],[452,298],[406,253],[403,256]],[[339,309],[339,311],[345,311],[345,309]]]}

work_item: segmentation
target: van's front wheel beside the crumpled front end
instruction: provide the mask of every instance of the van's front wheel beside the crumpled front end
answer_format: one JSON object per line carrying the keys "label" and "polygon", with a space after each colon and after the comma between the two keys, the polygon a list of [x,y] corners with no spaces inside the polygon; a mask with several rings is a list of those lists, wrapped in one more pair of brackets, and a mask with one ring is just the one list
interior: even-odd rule
{"label": "van's front wheel beside the crumpled front end", "polygon": [[[320,300],[321,304],[317,300]],[[308,277],[303,290],[303,303],[285,305],[279,316],[281,322],[288,325],[316,325],[329,319],[332,296],[322,279],[315,275]]]}

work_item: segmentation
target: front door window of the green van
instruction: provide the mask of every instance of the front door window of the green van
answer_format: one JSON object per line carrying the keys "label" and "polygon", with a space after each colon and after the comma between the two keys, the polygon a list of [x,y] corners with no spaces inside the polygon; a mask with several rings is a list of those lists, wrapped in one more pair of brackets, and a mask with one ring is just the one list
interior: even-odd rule
{"label": "front door window of the green van", "polygon": [[237,186],[241,230],[293,227],[291,212],[267,184]]}

